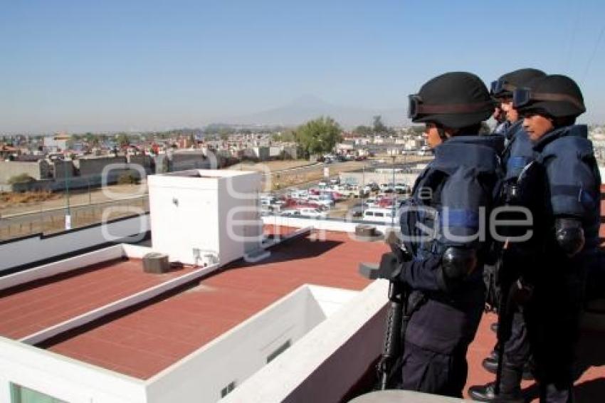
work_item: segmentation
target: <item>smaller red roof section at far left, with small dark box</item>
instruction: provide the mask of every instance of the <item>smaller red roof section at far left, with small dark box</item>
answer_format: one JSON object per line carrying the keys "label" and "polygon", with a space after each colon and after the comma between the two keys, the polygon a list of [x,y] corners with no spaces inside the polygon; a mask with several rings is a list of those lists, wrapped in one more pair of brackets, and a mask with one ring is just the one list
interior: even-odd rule
{"label": "smaller red roof section at far left, with small dark box", "polygon": [[0,335],[32,335],[191,270],[154,275],[140,260],[118,259],[0,291]]}

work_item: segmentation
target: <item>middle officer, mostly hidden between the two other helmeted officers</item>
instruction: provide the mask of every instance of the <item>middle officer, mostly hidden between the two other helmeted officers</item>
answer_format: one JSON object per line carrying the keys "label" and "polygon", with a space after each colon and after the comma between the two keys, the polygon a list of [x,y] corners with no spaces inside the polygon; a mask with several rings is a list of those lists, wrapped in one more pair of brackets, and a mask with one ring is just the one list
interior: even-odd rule
{"label": "middle officer, mostly hidden between the two other helmeted officers", "polygon": [[[501,187],[499,205],[518,206],[524,204],[516,194],[517,182],[521,172],[534,160],[533,144],[530,137],[522,127],[522,119],[512,105],[512,91],[516,88],[522,88],[528,85],[536,78],[546,75],[542,70],[535,68],[522,68],[519,70],[507,73],[498,80],[493,81],[490,93],[500,101],[501,110],[505,111],[506,120],[508,122],[507,130],[504,132],[506,137],[505,150],[501,156],[504,168],[504,179]],[[524,219],[525,216],[517,216],[509,214],[508,219]],[[521,228],[519,228],[522,231]],[[502,244],[499,248],[502,248]],[[508,273],[499,273],[498,278],[510,278],[511,276],[518,277],[524,272],[523,267],[527,265],[527,245],[511,243],[507,247],[506,256],[500,262],[499,270],[507,271]],[[511,273],[513,272],[514,273]],[[504,274],[504,275],[503,275]],[[493,281],[496,276],[493,276]],[[516,281],[516,278],[513,278]],[[501,284],[489,284],[488,290],[499,290]],[[507,284],[508,286],[508,284]],[[498,291],[490,302],[494,304],[494,300],[500,297]],[[505,291],[507,292],[507,291]],[[505,345],[502,379],[500,382],[500,395],[495,395],[494,383],[483,386],[473,386],[469,389],[471,398],[481,402],[521,402],[521,378],[531,379],[530,371],[527,369],[527,362],[530,359],[530,346],[527,340],[527,329],[522,315],[522,306],[512,307],[512,334]],[[496,372],[498,367],[498,355],[492,352],[490,357],[483,360],[483,367],[490,372]],[[523,371],[525,367],[525,373]]]}

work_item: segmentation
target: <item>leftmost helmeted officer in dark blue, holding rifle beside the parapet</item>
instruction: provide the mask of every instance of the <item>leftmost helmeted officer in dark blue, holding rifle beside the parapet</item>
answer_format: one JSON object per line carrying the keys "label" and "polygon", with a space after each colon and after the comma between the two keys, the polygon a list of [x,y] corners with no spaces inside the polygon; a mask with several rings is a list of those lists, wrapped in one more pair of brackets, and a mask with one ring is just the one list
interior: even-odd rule
{"label": "leftmost helmeted officer in dark blue, holding rifle beside the parapet", "polygon": [[483,310],[485,242],[476,235],[503,147],[501,136],[478,135],[493,109],[485,84],[471,73],[439,75],[409,96],[409,117],[426,125],[435,159],[401,209],[410,258],[395,281],[411,290],[408,312],[414,310],[404,326],[402,389],[462,396],[466,351]]}

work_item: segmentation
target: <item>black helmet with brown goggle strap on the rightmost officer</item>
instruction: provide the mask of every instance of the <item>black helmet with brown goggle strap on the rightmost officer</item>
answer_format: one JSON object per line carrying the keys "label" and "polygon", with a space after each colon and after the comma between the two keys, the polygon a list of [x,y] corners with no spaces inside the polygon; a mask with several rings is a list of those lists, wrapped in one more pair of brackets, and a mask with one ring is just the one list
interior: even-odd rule
{"label": "black helmet with brown goggle strap on the rightmost officer", "polygon": [[582,91],[567,75],[546,75],[527,88],[517,88],[512,106],[522,115],[535,112],[550,117],[578,117],[586,112]]}

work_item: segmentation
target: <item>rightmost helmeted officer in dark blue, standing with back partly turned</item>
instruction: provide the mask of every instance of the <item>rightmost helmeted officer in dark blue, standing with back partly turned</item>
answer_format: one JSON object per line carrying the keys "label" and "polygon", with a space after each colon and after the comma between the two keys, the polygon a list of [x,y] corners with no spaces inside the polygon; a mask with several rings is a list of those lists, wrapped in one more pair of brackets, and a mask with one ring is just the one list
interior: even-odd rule
{"label": "rightmost helmeted officer in dark blue, standing with back partly turned", "polygon": [[564,75],[546,75],[517,88],[513,106],[537,153],[521,193],[533,201],[536,258],[525,305],[527,334],[535,360],[540,402],[572,402],[574,346],[586,267],[599,236],[601,178],[585,125],[575,125],[584,108],[578,85]]}

